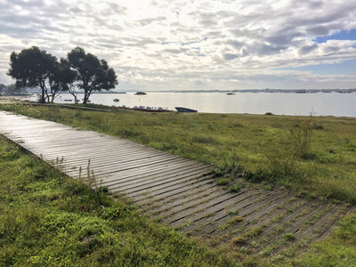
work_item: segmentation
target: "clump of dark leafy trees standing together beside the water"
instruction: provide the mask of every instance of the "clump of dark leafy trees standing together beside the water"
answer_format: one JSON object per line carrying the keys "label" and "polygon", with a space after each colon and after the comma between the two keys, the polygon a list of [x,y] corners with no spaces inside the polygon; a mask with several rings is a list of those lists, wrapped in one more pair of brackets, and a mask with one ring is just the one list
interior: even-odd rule
{"label": "clump of dark leafy trees standing together beside the water", "polygon": [[85,104],[92,93],[108,91],[117,85],[117,76],[108,62],[85,53],[81,47],[74,48],[61,61],[37,46],[12,52],[7,75],[16,80],[18,88],[41,88],[43,103],[53,101],[61,92],[72,93],[77,102],[77,88],[84,91]]}

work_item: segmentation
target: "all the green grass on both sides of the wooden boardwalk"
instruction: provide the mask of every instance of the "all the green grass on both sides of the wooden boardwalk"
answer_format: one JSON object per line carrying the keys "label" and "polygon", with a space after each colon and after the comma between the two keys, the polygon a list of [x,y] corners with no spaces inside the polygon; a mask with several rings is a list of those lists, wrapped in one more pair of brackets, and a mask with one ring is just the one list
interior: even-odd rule
{"label": "all the green grass on both sides of the wooden boardwalk", "polygon": [[[348,189],[355,188],[352,118],[0,107],[130,138],[213,164],[220,172],[276,182],[299,194],[356,199]],[[294,151],[291,133],[297,134],[305,122],[312,139],[302,156]],[[295,125],[299,127],[291,132]],[[124,198],[112,197],[69,179],[0,138],[0,266],[356,265],[356,214],[346,217],[329,239],[311,247],[296,243],[279,255],[244,255],[243,245],[188,239],[150,222]]]}

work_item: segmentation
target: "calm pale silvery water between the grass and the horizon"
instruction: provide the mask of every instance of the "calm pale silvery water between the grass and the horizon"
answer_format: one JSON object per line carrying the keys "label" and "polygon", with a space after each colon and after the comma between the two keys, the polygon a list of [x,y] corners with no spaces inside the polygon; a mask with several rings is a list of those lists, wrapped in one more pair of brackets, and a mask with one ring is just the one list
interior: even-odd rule
{"label": "calm pale silvery water between the grass and the horizon", "polygon": [[[80,97],[81,99],[82,97]],[[114,102],[114,99],[119,99]],[[73,99],[61,94],[56,102]],[[206,113],[249,113],[356,117],[356,93],[94,93],[92,103],[108,106],[174,107],[198,109]]]}

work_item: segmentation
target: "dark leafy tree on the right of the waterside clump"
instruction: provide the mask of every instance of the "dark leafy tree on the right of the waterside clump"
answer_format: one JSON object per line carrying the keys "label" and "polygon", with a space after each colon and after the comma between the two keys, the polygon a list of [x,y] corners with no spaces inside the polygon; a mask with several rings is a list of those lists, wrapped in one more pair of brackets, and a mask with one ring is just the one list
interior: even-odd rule
{"label": "dark leafy tree on the right of the waterside clump", "polygon": [[114,69],[109,68],[108,62],[100,61],[92,53],[85,53],[83,48],[74,48],[67,59],[70,68],[77,72],[77,88],[84,90],[84,104],[92,93],[109,91],[117,85],[117,75]]}

